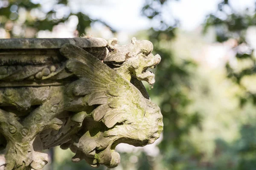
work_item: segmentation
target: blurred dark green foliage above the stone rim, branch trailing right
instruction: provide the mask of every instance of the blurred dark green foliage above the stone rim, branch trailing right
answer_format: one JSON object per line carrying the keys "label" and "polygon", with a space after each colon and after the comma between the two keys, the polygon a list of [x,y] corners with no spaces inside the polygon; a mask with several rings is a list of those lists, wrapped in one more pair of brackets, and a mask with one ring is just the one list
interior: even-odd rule
{"label": "blurred dark green foliage above the stone rim, branch trailing right", "polygon": [[[42,8],[47,3],[51,6]],[[101,20],[91,19],[81,11],[72,11],[71,3],[68,0],[0,0],[0,28],[5,28],[11,38],[28,37],[24,33],[26,30],[33,30],[35,33],[40,30],[52,31],[54,26],[67,22],[72,15],[78,18],[78,33],[74,36],[86,34],[85,28],[90,27],[92,22],[98,21],[108,26]],[[21,27],[23,33],[15,34],[15,26]],[[112,28],[111,30],[115,31]],[[36,37],[36,34],[29,37]]]}

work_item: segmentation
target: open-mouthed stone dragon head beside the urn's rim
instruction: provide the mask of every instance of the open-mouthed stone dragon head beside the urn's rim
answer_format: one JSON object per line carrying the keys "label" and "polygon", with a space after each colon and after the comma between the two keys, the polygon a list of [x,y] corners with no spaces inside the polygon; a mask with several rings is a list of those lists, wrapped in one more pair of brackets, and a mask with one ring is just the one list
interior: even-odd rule
{"label": "open-mouthed stone dragon head beside the urn's rim", "polygon": [[131,77],[154,84],[154,74],[147,71],[161,61],[160,55],[153,55],[153,44],[148,40],[132,38],[128,45],[118,45],[117,39],[108,41],[109,53],[104,62],[130,81]]}

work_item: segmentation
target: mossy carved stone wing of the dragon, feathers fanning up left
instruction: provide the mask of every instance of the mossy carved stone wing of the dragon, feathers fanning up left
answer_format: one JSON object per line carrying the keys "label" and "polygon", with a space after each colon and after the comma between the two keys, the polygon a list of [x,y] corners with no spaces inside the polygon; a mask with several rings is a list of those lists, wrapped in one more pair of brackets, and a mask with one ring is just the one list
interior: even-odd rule
{"label": "mossy carved stone wing of the dragon, feathers fanning up left", "polygon": [[69,59],[66,68],[79,77],[67,91],[73,96],[85,96],[86,105],[99,105],[91,113],[95,121],[111,128],[127,121],[134,116],[132,113],[143,116],[146,102],[134,85],[78,46],[65,44],[60,51]]}

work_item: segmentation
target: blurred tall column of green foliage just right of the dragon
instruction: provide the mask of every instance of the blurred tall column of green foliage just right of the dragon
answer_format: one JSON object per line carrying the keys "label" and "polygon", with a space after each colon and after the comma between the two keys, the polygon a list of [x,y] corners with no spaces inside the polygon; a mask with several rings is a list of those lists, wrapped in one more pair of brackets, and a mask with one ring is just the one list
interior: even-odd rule
{"label": "blurred tall column of green foliage just right of the dragon", "polygon": [[[163,140],[159,144],[163,156],[161,162],[167,169],[191,168],[190,159],[200,160],[201,154],[193,147],[186,136],[192,127],[200,127],[201,116],[196,111],[188,113],[186,106],[192,101],[188,98],[189,77],[192,72],[188,68],[196,67],[192,61],[175,61],[172,51],[163,48],[160,42],[169,42],[175,39],[178,21],[168,25],[163,18],[161,6],[168,0],[147,0],[142,9],[143,14],[151,20],[157,18],[160,25],[148,30],[148,38],[154,45],[154,53],[162,57],[157,66],[156,83],[150,95],[160,98],[159,106],[163,114]],[[158,7],[158,8],[156,8]],[[182,124],[180,122],[183,122]]]}

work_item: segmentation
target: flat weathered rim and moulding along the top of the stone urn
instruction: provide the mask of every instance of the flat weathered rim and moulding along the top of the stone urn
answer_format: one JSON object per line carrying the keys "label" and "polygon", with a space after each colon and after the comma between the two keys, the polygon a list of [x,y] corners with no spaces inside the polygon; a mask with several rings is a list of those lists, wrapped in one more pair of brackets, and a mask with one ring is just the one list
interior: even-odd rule
{"label": "flat weathered rim and moulding along the top of the stone urn", "polygon": [[0,39],[1,65],[35,65],[65,60],[59,53],[61,45],[78,45],[99,59],[107,55],[107,41],[102,38],[17,38]]}

